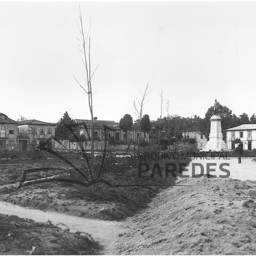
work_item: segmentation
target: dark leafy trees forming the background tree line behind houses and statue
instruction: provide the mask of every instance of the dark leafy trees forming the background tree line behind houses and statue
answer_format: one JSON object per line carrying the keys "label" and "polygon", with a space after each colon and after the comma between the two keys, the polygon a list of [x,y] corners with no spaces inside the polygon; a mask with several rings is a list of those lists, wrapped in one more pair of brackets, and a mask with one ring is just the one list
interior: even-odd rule
{"label": "dark leafy trees forming the background tree line behind houses and statue", "polygon": [[[201,131],[202,134],[209,138],[210,133],[210,118],[213,113],[213,106],[208,108],[205,117],[200,118],[200,116],[194,115],[194,117],[184,118],[178,115],[169,115],[164,116],[163,118],[158,118],[156,121],[150,122],[150,117],[148,114],[145,114],[141,120],[141,131],[142,132],[150,132],[150,139],[155,140],[154,142],[158,144],[158,135],[159,131],[163,132],[160,136],[160,144],[167,144],[167,140],[170,140],[172,144],[175,140],[182,139],[182,132],[186,132],[188,128],[196,126],[198,131]],[[248,114],[243,113],[239,116],[236,116],[232,113],[227,106],[220,105],[218,108],[218,114],[222,118],[222,130],[229,129],[232,127],[239,126],[241,124],[256,124],[256,116],[255,113],[249,118]],[[62,118],[60,118],[57,123],[57,128],[55,132],[55,136],[60,140],[71,140],[68,129],[64,126],[64,124],[74,124],[74,120],[70,118],[68,112],[66,111]],[[138,126],[138,120],[135,122],[130,114],[125,114],[123,118],[120,119],[119,127],[121,130],[125,131],[128,134],[128,131],[131,131],[133,127]],[[226,139],[225,132],[222,132],[224,136],[224,140]],[[85,140],[84,135],[80,135],[81,140]],[[72,136],[71,136],[72,137]],[[125,138],[126,142],[128,137]]]}

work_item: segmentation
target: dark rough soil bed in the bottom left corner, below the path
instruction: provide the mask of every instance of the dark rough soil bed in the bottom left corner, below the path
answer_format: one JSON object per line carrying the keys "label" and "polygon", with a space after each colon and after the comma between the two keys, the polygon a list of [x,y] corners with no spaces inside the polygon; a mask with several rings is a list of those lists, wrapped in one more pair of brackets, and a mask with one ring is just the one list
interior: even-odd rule
{"label": "dark rough soil bed in the bottom left corner, below the path", "polygon": [[50,221],[0,214],[0,255],[99,255],[101,251],[89,234],[73,234]]}

